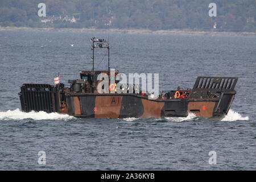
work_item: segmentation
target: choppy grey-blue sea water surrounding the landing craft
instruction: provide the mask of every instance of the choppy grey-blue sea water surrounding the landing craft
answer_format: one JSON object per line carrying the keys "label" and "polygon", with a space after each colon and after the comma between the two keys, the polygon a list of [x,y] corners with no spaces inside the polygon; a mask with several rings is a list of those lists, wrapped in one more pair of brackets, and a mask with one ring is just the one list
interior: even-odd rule
{"label": "choppy grey-blue sea water surrounding the landing craft", "polygon": [[[18,92],[24,82],[53,84],[60,72],[67,84],[81,69],[91,69],[90,34],[0,31],[0,169],[256,169],[255,36],[109,36],[112,67],[159,73],[161,90],[192,88],[199,75],[240,77],[227,117],[77,119],[22,113]],[[104,56],[96,55],[100,69],[107,64]],[[46,152],[46,165],[38,164],[39,151]],[[216,165],[208,163],[209,151],[216,151]]]}

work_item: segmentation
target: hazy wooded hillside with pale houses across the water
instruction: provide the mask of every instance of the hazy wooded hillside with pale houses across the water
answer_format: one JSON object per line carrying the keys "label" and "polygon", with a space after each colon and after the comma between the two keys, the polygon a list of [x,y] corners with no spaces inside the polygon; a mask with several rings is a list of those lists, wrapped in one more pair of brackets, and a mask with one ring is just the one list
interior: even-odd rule
{"label": "hazy wooded hillside with pale houses across the water", "polygon": [[[41,2],[46,17],[38,16]],[[216,17],[208,15],[212,2]],[[42,23],[59,16],[77,21]],[[2,0],[0,26],[256,32],[256,0]]]}

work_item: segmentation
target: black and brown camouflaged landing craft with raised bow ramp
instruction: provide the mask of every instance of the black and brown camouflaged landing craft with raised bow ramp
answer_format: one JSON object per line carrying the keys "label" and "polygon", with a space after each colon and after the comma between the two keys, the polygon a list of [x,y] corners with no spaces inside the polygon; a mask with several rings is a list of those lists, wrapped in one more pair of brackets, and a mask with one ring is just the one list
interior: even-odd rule
{"label": "black and brown camouflaged landing craft with raised bow ramp", "polygon": [[[115,80],[109,84],[110,93],[101,93],[98,85],[100,74],[108,76],[111,83],[109,66],[109,42],[92,38],[91,71],[80,71],[80,79],[69,80],[70,86],[59,82],[49,84],[23,84],[20,104],[22,111],[46,111],[72,115],[77,118],[150,118],[150,117],[187,117],[194,113],[197,117],[222,119],[228,114],[234,100],[237,77],[199,76],[193,89],[168,90],[161,92],[154,100],[137,85],[132,93],[118,93]],[[108,49],[108,70],[94,70],[94,49]],[[114,76],[118,75],[114,72]],[[130,85],[125,85],[130,88]],[[106,88],[105,88],[106,89]],[[108,88],[107,88],[108,89]]]}

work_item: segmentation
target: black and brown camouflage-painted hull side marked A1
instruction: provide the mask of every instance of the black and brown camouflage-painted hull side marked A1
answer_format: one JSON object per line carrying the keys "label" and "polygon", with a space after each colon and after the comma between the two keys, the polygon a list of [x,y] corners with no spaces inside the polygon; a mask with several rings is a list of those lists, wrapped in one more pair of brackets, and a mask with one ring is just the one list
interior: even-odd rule
{"label": "black and brown camouflage-painted hull side marked A1", "polygon": [[[223,110],[215,112],[220,99],[212,100],[148,100],[135,94],[71,94],[67,96],[68,114],[80,118],[160,118],[197,117],[222,119]],[[232,102],[232,101],[230,101]]]}

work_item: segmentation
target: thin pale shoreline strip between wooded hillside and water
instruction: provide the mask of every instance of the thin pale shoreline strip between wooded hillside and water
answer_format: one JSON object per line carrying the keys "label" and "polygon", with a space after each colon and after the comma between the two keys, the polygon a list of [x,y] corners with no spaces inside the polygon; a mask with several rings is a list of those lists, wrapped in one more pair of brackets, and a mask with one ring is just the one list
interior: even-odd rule
{"label": "thin pale shoreline strip between wooded hillside and water", "polygon": [[256,32],[218,32],[201,31],[191,29],[172,29],[172,30],[149,30],[140,28],[129,29],[95,29],[95,28],[31,28],[31,27],[1,27],[0,31],[53,31],[53,32],[110,32],[117,34],[152,34],[152,35],[233,35],[233,36],[256,36]]}

